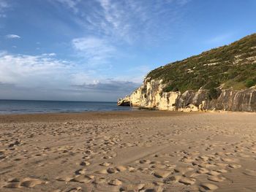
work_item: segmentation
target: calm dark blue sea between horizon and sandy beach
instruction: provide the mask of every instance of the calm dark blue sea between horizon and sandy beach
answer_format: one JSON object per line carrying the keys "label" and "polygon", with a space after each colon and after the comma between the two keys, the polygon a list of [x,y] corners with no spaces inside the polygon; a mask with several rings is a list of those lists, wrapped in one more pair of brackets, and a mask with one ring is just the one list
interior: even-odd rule
{"label": "calm dark blue sea between horizon and sandy beach", "polygon": [[127,111],[135,108],[119,107],[116,102],[0,100],[0,114],[118,110]]}

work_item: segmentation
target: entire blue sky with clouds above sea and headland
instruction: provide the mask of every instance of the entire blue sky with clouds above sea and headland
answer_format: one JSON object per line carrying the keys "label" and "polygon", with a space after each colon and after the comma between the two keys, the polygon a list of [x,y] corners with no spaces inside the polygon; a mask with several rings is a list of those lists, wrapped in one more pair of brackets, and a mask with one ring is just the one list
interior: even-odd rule
{"label": "entire blue sky with clouds above sea and headland", "polygon": [[0,0],[0,99],[116,101],[256,32],[255,0]]}

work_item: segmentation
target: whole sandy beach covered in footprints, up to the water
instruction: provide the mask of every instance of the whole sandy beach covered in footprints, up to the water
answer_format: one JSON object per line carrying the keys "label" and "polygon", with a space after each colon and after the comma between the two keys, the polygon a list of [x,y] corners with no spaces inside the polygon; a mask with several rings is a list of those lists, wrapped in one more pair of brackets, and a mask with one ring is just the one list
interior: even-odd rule
{"label": "whole sandy beach covered in footprints, up to the water", "polygon": [[0,115],[0,191],[256,191],[256,114]]}

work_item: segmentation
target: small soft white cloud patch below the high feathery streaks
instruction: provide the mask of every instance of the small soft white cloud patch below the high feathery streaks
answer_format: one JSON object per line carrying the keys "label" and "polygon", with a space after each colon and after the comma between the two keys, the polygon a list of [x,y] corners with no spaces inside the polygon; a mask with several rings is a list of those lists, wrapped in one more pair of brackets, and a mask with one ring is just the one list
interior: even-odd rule
{"label": "small soft white cloud patch below the high feathery streaks", "polygon": [[83,37],[72,40],[72,46],[79,51],[80,56],[87,59],[89,64],[102,64],[113,56],[116,48],[105,39]]}

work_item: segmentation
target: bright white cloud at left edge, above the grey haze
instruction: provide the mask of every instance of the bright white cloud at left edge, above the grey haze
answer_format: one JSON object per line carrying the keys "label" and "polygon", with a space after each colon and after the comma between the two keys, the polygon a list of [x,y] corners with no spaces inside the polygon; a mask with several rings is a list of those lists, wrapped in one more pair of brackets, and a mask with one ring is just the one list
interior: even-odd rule
{"label": "bright white cloud at left edge, above the grey haze", "polygon": [[74,66],[47,55],[0,54],[0,82],[22,86],[60,86]]}

